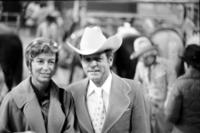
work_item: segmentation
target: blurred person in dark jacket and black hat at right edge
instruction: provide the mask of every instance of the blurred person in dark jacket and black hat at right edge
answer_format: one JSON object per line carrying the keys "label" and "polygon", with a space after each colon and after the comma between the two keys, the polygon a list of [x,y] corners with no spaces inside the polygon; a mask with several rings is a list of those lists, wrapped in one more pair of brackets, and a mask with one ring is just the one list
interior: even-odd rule
{"label": "blurred person in dark jacket and black hat at right edge", "polygon": [[182,59],[188,67],[169,92],[165,114],[172,133],[200,133],[200,46],[187,46]]}

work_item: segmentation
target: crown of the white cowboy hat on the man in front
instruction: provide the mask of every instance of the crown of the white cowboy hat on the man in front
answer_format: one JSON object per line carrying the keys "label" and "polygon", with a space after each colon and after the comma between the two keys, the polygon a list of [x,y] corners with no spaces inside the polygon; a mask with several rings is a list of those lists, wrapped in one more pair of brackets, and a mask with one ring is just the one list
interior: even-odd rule
{"label": "crown of the white cowboy hat on the man in front", "polygon": [[98,47],[101,47],[105,41],[106,37],[103,35],[101,29],[97,26],[95,27],[87,27],[84,30],[81,42],[80,49],[81,50],[94,50]]}

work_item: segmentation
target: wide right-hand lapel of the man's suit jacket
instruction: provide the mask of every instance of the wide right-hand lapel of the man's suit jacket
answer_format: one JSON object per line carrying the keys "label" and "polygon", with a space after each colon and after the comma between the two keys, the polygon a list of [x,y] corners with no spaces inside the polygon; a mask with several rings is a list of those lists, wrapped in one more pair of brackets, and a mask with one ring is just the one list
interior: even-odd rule
{"label": "wide right-hand lapel of the man's suit jacket", "polygon": [[128,93],[130,92],[129,85],[114,73],[112,76],[109,107],[102,129],[103,133],[108,132],[108,130],[120,119],[130,104],[128,96]]}

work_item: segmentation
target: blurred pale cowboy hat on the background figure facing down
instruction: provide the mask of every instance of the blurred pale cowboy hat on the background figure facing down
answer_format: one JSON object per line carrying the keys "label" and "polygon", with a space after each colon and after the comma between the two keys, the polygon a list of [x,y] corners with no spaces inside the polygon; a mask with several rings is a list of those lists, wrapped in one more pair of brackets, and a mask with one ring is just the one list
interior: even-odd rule
{"label": "blurred pale cowboy hat on the background figure facing down", "polygon": [[146,52],[151,51],[152,55],[157,55],[157,49],[152,45],[151,41],[147,37],[138,37],[134,43],[134,52],[130,55],[130,59],[135,59]]}

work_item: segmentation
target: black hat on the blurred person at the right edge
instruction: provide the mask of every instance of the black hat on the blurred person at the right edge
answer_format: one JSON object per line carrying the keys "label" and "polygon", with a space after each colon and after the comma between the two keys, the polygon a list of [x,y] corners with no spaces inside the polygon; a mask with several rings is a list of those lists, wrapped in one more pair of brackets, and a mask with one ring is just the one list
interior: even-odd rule
{"label": "black hat on the blurred person at the right edge", "polygon": [[183,53],[182,59],[200,71],[200,46],[196,44],[188,45]]}

